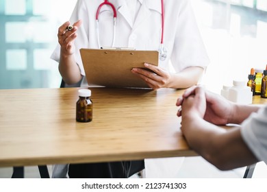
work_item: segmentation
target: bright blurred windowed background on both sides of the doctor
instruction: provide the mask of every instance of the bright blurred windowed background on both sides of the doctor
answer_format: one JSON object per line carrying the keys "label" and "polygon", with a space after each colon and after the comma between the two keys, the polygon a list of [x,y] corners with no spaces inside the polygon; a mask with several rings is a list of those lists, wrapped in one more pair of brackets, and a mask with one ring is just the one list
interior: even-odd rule
{"label": "bright blurred windowed background on both sides of the doctor", "polygon": [[[50,55],[76,0],[0,0],[0,88],[58,88]],[[267,64],[267,0],[192,0],[211,63],[213,91]]]}

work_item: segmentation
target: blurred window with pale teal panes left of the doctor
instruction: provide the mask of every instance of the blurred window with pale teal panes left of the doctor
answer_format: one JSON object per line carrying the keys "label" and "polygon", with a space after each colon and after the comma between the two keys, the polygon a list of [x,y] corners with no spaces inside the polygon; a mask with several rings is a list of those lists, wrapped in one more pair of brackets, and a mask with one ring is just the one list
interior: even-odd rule
{"label": "blurred window with pale teal panes left of the doctor", "polygon": [[0,88],[60,86],[58,64],[50,55],[58,43],[58,27],[68,21],[75,3],[0,0]]}

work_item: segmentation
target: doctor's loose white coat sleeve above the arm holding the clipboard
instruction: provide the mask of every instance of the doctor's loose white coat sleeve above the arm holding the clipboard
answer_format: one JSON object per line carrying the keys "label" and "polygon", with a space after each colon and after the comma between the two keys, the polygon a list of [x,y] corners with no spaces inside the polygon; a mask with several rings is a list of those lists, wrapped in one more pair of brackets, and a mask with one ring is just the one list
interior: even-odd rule
{"label": "doctor's loose white coat sleeve above the arm holding the clipboard", "polygon": [[[177,16],[177,32],[171,62],[175,71],[179,72],[187,67],[202,67],[209,64],[207,51],[203,43],[199,27],[190,1],[180,1]],[[173,10],[175,12],[175,10]]]}

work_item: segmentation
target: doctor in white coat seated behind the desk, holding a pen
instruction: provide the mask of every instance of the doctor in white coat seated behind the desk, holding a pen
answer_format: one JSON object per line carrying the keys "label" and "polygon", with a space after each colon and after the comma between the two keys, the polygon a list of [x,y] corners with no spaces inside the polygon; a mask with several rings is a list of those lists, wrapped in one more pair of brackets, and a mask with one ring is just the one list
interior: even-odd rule
{"label": "doctor in white coat seated behind the desk, holding a pen", "polygon": [[[115,12],[105,4],[97,14],[103,2],[78,0],[70,21],[58,29],[59,45],[51,58],[59,62],[66,84],[83,79],[82,86],[88,86],[79,49],[100,47],[159,50],[159,67],[144,64],[154,73],[132,69],[154,90],[188,88],[199,82],[209,59],[190,0],[110,0]],[[66,30],[68,25],[73,29]],[[182,162],[183,158],[145,159],[146,177],[175,178]]]}

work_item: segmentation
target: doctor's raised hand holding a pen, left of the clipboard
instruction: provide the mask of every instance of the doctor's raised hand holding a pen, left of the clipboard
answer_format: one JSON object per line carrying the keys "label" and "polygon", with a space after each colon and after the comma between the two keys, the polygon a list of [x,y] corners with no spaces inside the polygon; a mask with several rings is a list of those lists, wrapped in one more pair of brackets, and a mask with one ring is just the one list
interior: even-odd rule
{"label": "doctor's raised hand holding a pen, left of the clipboard", "polygon": [[69,21],[66,21],[58,28],[58,43],[61,46],[61,53],[65,56],[72,55],[75,52],[73,42],[77,37],[77,29],[81,26],[81,20],[73,23],[73,29],[66,29],[70,25]]}

